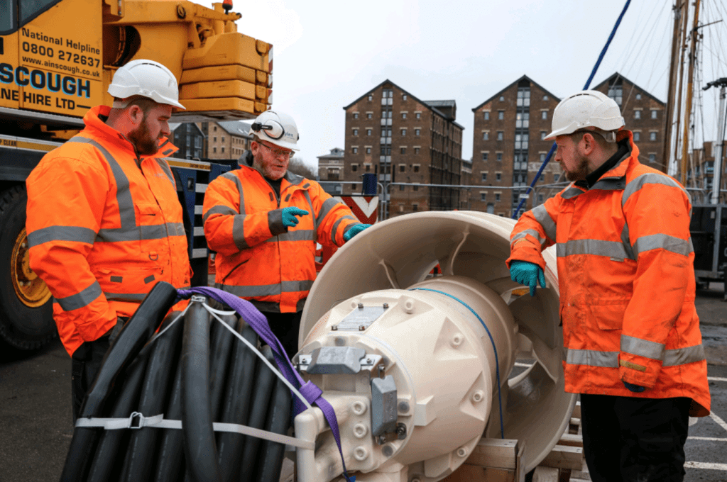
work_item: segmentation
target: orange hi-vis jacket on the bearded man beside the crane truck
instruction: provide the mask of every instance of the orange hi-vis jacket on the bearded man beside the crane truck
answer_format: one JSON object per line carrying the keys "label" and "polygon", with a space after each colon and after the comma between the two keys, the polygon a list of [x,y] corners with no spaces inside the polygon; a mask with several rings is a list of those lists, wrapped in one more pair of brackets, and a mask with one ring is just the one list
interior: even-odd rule
{"label": "orange hi-vis jacket on the bearded man beside the crane truck", "polygon": [[31,172],[25,223],[33,271],[53,294],[60,339],[73,355],[132,316],[151,287],[190,285],[190,265],[174,176],[163,156],[137,158],[100,115],[52,150]]}

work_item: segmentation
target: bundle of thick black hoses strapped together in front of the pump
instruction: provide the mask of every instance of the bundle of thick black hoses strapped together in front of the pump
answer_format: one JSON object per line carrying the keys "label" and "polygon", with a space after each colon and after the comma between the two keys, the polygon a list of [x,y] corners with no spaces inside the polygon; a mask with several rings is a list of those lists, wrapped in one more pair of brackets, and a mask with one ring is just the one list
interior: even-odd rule
{"label": "bundle of thick black hoses strapped together in front of the pump", "polygon": [[[121,331],[92,386],[93,396],[89,393],[90,399],[84,401],[81,417],[164,414],[165,420],[182,420],[182,430],[77,428],[61,480],[278,480],[284,444],[240,433],[215,434],[212,422],[286,433],[291,405],[287,386],[258,362],[245,343],[217,325],[201,303],[189,307],[183,324],[180,320],[141,348],[158,325],[156,320],[174,302],[173,292],[162,288],[158,293],[150,293]],[[252,346],[258,346],[257,334],[244,320],[221,317]],[[168,317],[162,327],[169,321]],[[270,347],[261,351],[273,363]],[[81,453],[84,448],[86,454]]]}

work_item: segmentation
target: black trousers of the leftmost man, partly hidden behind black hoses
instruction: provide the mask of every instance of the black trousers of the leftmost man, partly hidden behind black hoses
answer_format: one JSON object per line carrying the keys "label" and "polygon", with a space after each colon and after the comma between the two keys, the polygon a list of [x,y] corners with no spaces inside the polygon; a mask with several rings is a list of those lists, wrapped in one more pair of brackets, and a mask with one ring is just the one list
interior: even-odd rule
{"label": "black trousers of the leftmost man, partly hidden behind black hoses", "polygon": [[73,404],[73,425],[81,412],[81,404],[84,402],[86,393],[96,380],[96,375],[101,368],[111,342],[119,335],[124,323],[129,321],[125,316],[119,316],[116,320],[116,327],[108,330],[101,338],[93,341],[84,341],[76,348],[71,356],[71,403]]}

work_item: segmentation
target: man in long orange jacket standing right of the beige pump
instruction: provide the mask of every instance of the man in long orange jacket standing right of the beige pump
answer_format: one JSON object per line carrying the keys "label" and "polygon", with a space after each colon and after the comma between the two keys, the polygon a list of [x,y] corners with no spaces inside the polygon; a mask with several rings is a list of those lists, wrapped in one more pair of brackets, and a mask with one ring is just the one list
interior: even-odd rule
{"label": "man in long orange jacket standing right of the beige pump", "polygon": [[566,391],[581,394],[593,481],[682,481],[688,417],[710,413],[691,201],[639,163],[623,126],[598,91],[555,107],[545,139],[572,182],[523,214],[507,264],[535,295],[545,287],[540,253],[556,245]]}

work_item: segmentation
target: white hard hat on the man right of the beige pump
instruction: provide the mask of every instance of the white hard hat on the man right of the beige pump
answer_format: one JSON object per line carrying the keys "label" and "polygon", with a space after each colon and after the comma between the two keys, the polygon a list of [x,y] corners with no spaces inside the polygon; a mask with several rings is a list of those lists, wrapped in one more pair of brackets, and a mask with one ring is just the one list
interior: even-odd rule
{"label": "white hard hat on the man right of the beige pump", "polygon": [[[561,100],[555,107],[553,132],[545,136],[545,139],[573,134],[587,127],[595,127],[602,131],[617,131],[624,124],[621,110],[614,99],[599,91],[580,91]],[[606,140],[615,142],[615,134],[607,136]]]}

